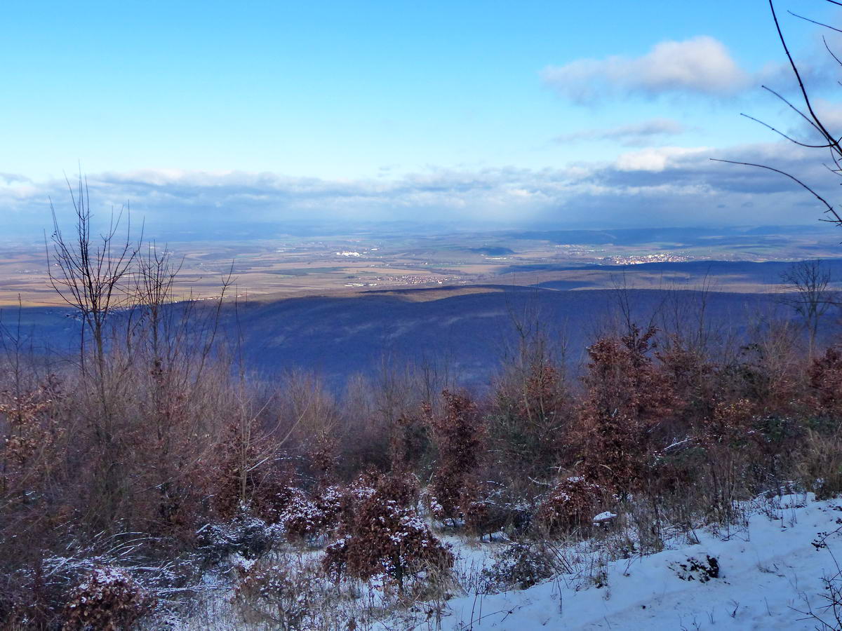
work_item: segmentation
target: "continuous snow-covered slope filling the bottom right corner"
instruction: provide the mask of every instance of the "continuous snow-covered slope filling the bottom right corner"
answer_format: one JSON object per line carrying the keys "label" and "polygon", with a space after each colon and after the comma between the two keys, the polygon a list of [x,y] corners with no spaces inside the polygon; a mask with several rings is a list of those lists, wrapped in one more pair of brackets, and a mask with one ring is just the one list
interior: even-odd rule
{"label": "continuous snow-covered slope filling the bottom right corner", "polygon": [[684,536],[657,554],[609,562],[600,566],[601,581],[561,575],[523,591],[451,600],[442,628],[827,628],[802,612],[834,621],[822,579],[839,572],[842,535],[827,538],[827,548],[813,541],[842,528],[842,501],[807,494],[744,507],[743,527],[699,530],[693,543]]}

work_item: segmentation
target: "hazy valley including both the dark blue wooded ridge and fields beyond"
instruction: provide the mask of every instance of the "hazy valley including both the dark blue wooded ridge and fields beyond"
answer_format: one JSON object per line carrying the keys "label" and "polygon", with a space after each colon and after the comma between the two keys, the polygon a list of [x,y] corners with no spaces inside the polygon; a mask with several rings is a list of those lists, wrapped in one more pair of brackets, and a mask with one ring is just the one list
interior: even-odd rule
{"label": "hazy valley including both the dark blue wooded ridge and fields beyond", "polygon": [[[245,369],[309,371],[340,389],[354,374],[419,363],[488,386],[517,326],[540,326],[576,369],[590,342],[620,326],[623,301],[635,321],[701,318],[711,335],[736,339],[792,316],[781,275],[836,247],[805,227],[288,239],[167,246],[183,257],[173,298],[212,303],[227,279],[221,340]],[[24,264],[5,277],[5,326],[18,326],[20,296],[22,331],[65,352],[78,324],[46,283],[43,252],[7,251],[3,266]],[[842,259],[825,264],[838,286]]]}

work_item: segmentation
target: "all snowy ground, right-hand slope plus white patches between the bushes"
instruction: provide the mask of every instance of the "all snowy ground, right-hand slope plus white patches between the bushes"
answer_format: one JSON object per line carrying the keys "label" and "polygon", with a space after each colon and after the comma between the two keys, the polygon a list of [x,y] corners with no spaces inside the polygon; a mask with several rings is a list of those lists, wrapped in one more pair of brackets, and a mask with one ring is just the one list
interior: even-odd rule
{"label": "all snowy ground, right-hand slope plus white patches between the bushes", "polygon": [[[464,596],[437,605],[423,602],[402,612],[360,620],[374,631],[701,631],[711,629],[839,629],[825,578],[842,588],[842,498],[815,501],[812,493],[758,498],[738,506],[741,519],[729,528],[676,531],[656,554],[633,551],[618,522],[587,542],[558,545],[569,571],[525,590],[484,593],[495,556],[506,544],[477,544],[445,537],[453,547],[456,589]],[[816,545],[818,544],[818,545]],[[321,554],[301,553],[303,558]],[[498,565],[499,567],[499,565]],[[835,578],[834,578],[835,577]],[[378,596],[373,596],[376,604]],[[345,606],[352,603],[344,602]],[[363,605],[364,603],[360,603]],[[228,631],[242,626],[230,597],[210,597],[199,618],[173,628]],[[213,605],[212,607],[210,605]],[[444,611],[434,611],[444,605]],[[832,626],[823,626],[813,612]],[[382,614],[381,614],[382,615]],[[842,612],[840,612],[842,615]],[[257,627],[255,627],[257,628]],[[260,627],[264,628],[264,627]],[[319,629],[328,628],[319,626]]]}

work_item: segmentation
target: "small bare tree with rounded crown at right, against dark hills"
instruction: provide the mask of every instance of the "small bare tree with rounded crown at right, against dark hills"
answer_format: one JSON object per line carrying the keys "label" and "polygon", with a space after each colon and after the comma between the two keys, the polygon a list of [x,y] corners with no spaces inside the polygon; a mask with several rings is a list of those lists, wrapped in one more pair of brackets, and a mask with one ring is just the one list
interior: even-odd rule
{"label": "small bare tree with rounded crown at right, against dark hills", "polygon": [[834,291],[829,289],[830,271],[818,259],[794,263],[781,274],[786,294],[784,302],[802,318],[809,338],[809,358],[813,359],[818,334],[818,321],[834,304]]}

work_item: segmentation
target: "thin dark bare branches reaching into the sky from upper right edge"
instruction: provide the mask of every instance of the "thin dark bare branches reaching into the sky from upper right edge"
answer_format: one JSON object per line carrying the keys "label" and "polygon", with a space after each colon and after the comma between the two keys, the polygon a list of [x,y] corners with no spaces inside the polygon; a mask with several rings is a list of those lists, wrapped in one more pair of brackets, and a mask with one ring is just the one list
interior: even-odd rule
{"label": "thin dark bare branches reaching into the sky from upper right edge", "polygon": [[[842,2],[837,2],[836,0],[825,0],[825,2],[834,4],[837,6],[842,7]],[[810,96],[810,91],[807,88],[806,83],[804,82],[804,75],[799,70],[798,65],[794,58],[792,57],[789,45],[786,44],[786,38],[784,37],[783,30],[781,29],[781,23],[778,19],[778,14],[775,11],[775,3],[773,0],[769,0],[769,8],[772,13],[772,19],[775,22],[775,29],[777,31],[778,39],[781,41],[781,45],[784,49],[784,54],[786,55],[786,60],[789,62],[789,66],[791,68],[792,74],[795,77],[798,83],[798,90],[797,90],[797,98],[790,99],[786,98],[783,94],[776,91],[772,87],[763,86],[767,92],[771,93],[781,100],[782,103],[785,103],[788,108],[793,110],[798,116],[807,124],[809,129],[813,130],[814,137],[818,138],[818,141],[802,141],[799,140],[792,135],[785,134],[781,130],[775,129],[772,125],[769,125],[762,120],[755,119],[754,116],[749,116],[749,114],[742,114],[748,119],[754,120],[755,122],[759,123],[760,125],[765,126],[769,130],[775,132],[775,134],[780,135],[783,138],[786,138],[787,141],[792,142],[797,146],[807,147],[808,149],[815,149],[820,151],[827,151],[829,156],[829,162],[824,162],[824,166],[827,167],[828,171],[833,173],[838,177],[842,177],[842,135],[839,134],[837,130],[834,132],[831,130],[831,125],[829,125],[829,121],[827,119],[823,119],[821,115],[818,114],[817,109],[813,103],[813,98]],[[821,22],[817,22],[816,20],[805,18],[802,15],[797,13],[792,13],[789,11],[792,16],[807,20],[812,24],[818,24],[826,29],[830,29],[837,33],[842,33],[842,29],[837,29],[829,24],[823,24]],[[829,56],[831,56],[835,63],[842,66],[842,56],[839,56],[837,53],[834,53],[834,50],[830,48],[828,41],[823,37],[824,47],[828,51]],[[785,176],[786,178],[790,178],[793,182],[797,183],[802,188],[805,188],[810,194],[813,194],[820,204],[824,207],[824,214],[827,215],[826,219],[823,221],[829,221],[834,225],[842,226],[842,216],[839,215],[839,212],[834,208],[834,204],[831,204],[827,199],[825,199],[821,194],[818,194],[813,185],[803,182],[801,179],[797,178],[793,174],[783,171],[779,168],[770,167],[766,164],[755,164],[754,162],[738,162],[734,160],[718,160],[717,158],[711,158],[715,162],[730,162],[732,164],[740,164],[746,167],[758,167],[767,169],[769,171],[774,171],[776,173],[780,173],[781,175]]]}

